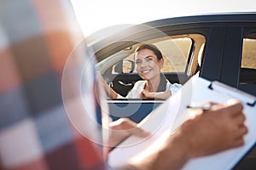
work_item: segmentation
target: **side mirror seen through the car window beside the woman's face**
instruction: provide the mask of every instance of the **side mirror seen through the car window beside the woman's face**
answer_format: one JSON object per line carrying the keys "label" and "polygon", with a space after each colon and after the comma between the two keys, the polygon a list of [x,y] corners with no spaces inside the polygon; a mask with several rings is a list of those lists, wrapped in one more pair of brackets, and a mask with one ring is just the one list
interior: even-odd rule
{"label": "side mirror seen through the car window beside the woman's face", "polygon": [[114,73],[131,73],[134,71],[134,61],[131,59],[123,59],[119,61],[116,65],[113,65]]}

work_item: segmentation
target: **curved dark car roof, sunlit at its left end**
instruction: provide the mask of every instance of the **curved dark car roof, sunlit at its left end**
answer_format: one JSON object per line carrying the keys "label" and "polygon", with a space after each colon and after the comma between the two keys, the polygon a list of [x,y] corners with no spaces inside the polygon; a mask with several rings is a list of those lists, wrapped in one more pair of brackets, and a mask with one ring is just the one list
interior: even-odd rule
{"label": "curved dark car roof, sunlit at its left end", "polygon": [[[136,33],[137,31],[145,31],[152,28],[160,28],[164,26],[178,26],[178,25],[191,25],[191,24],[209,24],[209,23],[234,23],[234,22],[253,22],[256,23],[256,12],[239,12],[239,13],[214,13],[214,14],[194,14],[188,16],[172,17],[161,20],[153,20],[145,22],[143,24],[128,26],[128,28],[120,29],[113,34],[105,35],[105,37],[97,38],[95,41],[90,42],[89,47],[93,48],[95,53],[102,51],[109,44],[113,42],[118,42],[125,36]],[[99,32],[99,34],[106,34],[108,30]],[[96,35],[94,35],[96,36]],[[97,36],[96,36],[97,37]],[[91,37],[89,37],[90,39]],[[116,44],[115,46],[119,46]],[[114,46],[113,46],[114,47]],[[109,50],[109,49],[107,49]],[[104,54],[104,49],[102,53]],[[106,51],[105,51],[106,52]],[[98,58],[98,55],[96,55]]]}

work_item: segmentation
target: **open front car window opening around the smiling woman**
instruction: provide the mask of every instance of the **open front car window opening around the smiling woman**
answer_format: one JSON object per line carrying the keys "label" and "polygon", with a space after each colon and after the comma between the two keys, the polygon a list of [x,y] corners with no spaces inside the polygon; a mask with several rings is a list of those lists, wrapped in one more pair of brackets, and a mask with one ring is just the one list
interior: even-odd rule
{"label": "open front car window opening around the smiling woman", "polygon": [[[204,47],[205,42],[205,37],[200,34],[185,34],[154,38],[143,43],[152,43],[160,49],[165,60],[161,72],[166,78],[171,83],[183,84],[200,71],[201,47]],[[135,82],[141,80],[134,64],[134,51],[139,44],[141,42],[135,42],[122,48],[97,64],[109,86],[123,96]]]}

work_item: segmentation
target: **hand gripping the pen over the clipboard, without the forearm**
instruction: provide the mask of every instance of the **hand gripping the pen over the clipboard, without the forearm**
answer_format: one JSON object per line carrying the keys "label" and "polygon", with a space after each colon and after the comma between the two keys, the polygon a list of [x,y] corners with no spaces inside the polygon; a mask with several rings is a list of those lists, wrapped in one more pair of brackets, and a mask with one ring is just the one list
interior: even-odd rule
{"label": "hand gripping the pen over the clipboard, without the forearm", "polygon": [[243,106],[236,100],[228,104],[212,105],[209,111],[201,111],[183,123],[179,129],[190,157],[206,156],[244,144],[247,133],[244,125]]}

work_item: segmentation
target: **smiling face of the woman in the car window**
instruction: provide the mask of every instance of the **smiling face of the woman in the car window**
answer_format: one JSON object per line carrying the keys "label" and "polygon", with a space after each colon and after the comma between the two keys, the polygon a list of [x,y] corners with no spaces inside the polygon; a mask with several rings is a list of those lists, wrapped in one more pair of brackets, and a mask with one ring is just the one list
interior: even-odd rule
{"label": "smiling face of the woman in the car window", "polygon": [[157,56],[150,49],[141,49],[135,54],[137,73],[144,80],[150,80],[160,76],[160,69],[164,59],[157,59]]}

